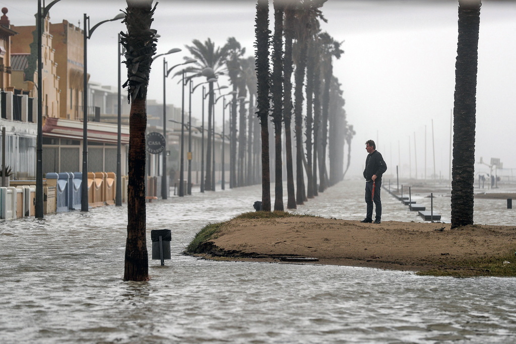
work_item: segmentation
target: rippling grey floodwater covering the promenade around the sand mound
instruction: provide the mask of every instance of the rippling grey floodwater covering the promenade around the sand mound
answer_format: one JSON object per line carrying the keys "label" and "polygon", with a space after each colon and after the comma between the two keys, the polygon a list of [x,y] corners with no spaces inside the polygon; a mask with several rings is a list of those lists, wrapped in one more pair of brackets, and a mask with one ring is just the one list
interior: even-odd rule
{"label": "rippling grey floodwater covering the promenade around the sand mound", "polygon": [[[362,219],[363,190],[345,181],[297,212]],[[516,342],[516,279],[182,255],[204,225],[260,199],[252,186],[148,203],[147,229],[172,231],[172,259],[149,260],[144,283],[122,281],[125,205],[0,223],[0,342]],[[422,221],[385,191],[382,203],[384,221]],[[449,195],[434,211],[449,221]],[[514,214],[505,201],[475,200],[477,223],[512,225]]]}

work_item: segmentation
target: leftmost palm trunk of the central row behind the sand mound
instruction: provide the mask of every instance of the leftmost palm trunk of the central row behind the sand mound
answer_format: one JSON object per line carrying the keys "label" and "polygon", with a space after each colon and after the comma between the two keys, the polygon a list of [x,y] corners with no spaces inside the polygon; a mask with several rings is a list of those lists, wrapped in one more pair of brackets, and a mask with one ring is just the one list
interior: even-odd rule
{"label": "leftmost palm trunk of the central row behind the sand mound", "polygon": [[256,77],[258,80],[258,118],[262,127],[262,210],[270,211],[269,165],[269,2],[258,0],[256,4]]}

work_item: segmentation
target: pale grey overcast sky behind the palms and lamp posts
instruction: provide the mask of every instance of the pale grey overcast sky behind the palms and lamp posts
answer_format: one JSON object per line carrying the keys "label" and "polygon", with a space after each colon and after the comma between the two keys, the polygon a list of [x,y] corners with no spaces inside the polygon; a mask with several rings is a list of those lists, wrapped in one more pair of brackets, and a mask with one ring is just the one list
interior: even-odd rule
{"label": "pale grey overcast sky behind the palms and lamp posts", "polygon": [[[0,5],[9,9],[11,24],[34,25],[36,0],[0,0]],[[93,26],[115,17],[124,8],[123,0],[62,0],[52,7],[50,16],[52,23],[66,19],[75,25],[80,22],[83,27],[83,13],[87,13]],[[418,178],[425,176],[426,166],[426,176],[430,177],[434,160],[436,173],[447,178],[458,3],[329,0],[322,11],[328,19],[322,29],[335,40],[344,41],[345,53],[335,61],[334,74],[344,90],[347,120],[357,132],[352,143],[351,174],[358,175],[363,170],[364,142],[373,139],[394,179],[396,166],[407,177],[414,177],[417,168]],[[188,55],[184,46],[193,39],[205,41],[209,37],[223,45],[228,37],[235,37],[246,47],[248,56],[254,55],[254,17],[252,0],[159,1],[153,23],[161,36],[157,52],[183,48],[167,57],[172,66]],[[121,30],[125,31],[123,24],[110,22],[94,31],[88,42],[92,81],[117,84],[117,33]],[[504,168],[514,169],[513,174],[515,62],[516,2],[486,0],[480,11],[475,160],[500,158]],[[163,99],[162,73],[163,59],[158,58],[148,94],[149,99],[158,102]],[[223,84],[229,85],[222,79],[220,85]],[[181,105],[180,88],[176,81],[167,81],[167,99],[176,106]],[[200,103],[199,89],[192,99]],[[221,109],[216,111],[221,113]],[[197,104],[193,105],[193,116],[200,118]],[[477,164],[476,171],[489,168]]]}

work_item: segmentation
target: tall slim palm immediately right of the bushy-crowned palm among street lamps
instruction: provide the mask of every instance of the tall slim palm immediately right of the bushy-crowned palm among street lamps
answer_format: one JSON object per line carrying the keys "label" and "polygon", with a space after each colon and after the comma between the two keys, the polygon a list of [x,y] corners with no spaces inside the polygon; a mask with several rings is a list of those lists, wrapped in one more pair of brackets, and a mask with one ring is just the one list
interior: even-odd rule
{"label": "tall slim palm immediately right of the bushy-crowned palm among street lamps", "polygon": [[243,48],[240,43],[234,38],[228,38],[228,59],[226,66],[228,68],[228,76],[233,87],[233,101],[231,102],[231,117],[230,117],[230,188],[236,186],[236,99],[238,89],[238,78],[241,74],[240,58],[246,53],[246,48]]}

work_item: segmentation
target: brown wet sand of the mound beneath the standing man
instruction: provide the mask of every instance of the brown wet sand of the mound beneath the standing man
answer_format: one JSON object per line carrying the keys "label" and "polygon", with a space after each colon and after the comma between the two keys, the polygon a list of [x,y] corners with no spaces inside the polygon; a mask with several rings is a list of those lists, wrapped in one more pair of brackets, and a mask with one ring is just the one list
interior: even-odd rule
{"label": "brown wet sand of the mound beneath the standing man", "polygon": [[225,223],[218,237],[205,247],[209,257],[230,260],[280,262],[297,257],[317,258],[315,264],[390,270],[454,269],[457,261],[514,252],[516,226],[473,225],[450,230],[449,223],[439,222],[236,218]]}

